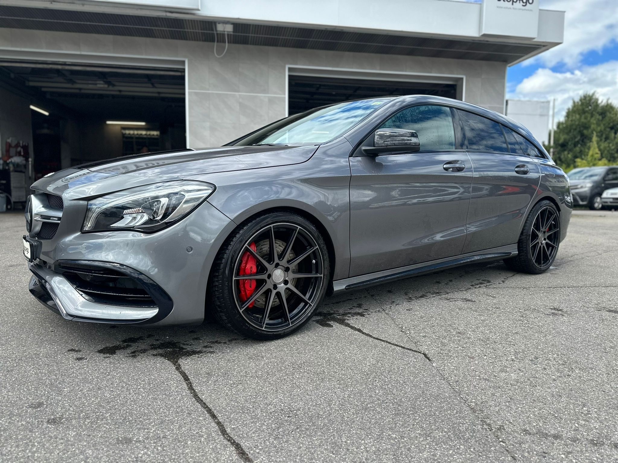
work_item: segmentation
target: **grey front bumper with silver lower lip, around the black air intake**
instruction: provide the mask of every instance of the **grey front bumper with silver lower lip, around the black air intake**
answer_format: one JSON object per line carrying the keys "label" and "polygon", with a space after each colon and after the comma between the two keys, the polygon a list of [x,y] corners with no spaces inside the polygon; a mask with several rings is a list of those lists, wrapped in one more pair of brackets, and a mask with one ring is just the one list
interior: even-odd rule
{"label": "grey front bumper with silver lower lip, around the black air intake", "polygon": [[[80,230],[84,212],[85,201],[65,202],[56,234],[41,240],[39,259],[29,264],[30,293],[69,320],[166,326],[203,321],[210,268],[234,222],[205,201],[185,219],[156,233],[81,233],[75,230]],[[66,262],[116,265],[121,273],[142,278],[148,294],[164,294],[169,303],[152,297],[156,304],[150,307],[132,306],[88,297],[93,293],[75,286],[60,270]]]}

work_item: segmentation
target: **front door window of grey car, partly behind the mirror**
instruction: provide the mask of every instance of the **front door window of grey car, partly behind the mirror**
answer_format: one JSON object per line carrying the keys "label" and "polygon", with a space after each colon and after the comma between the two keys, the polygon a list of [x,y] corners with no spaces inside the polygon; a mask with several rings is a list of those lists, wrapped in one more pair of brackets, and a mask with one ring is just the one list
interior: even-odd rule
{"label": "front door window of grey car, partly behind the mirror", "polygon": [[408,107],[384,122],[380,128],[417,131],[421,151],[455,149],[451,109],[446,106]]}

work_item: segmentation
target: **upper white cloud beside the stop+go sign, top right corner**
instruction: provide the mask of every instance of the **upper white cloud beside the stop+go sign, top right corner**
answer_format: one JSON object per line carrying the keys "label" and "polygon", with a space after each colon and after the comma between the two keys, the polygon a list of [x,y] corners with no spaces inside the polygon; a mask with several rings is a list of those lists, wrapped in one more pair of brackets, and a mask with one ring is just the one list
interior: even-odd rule
{"label": "upper white cloud beside the stop+go sign, top right corner", "polygon": [[601,51],[618,42],[618,2],[616,0],[543,0],[540,7],[565,11],[564,42],[533,57],[527,64],[552,67],[564,63],[574,69],[583,54]]}

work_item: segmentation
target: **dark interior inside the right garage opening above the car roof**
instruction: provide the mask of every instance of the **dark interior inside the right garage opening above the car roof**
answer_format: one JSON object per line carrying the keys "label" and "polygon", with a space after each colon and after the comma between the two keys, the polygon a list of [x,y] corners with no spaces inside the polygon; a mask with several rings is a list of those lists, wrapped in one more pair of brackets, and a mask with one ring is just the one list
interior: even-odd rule
{"label": "dark interior inside the right garage opening above the car roof", "polygon": [[290,74],[288,114],[350,99],[424,94],[458,98],[457,83]]}

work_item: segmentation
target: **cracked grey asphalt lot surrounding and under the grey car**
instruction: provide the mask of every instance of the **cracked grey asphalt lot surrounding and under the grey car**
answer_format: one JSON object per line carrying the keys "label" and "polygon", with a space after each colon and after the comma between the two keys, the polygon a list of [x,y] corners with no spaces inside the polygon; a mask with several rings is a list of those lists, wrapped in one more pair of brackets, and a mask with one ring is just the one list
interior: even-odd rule
{"label": "cracked grey asphalt lot surrounding and under the grey car", "polygon": [[[581,213],[580,213],[581,212]],[[618,212],[543,275],[476,264],[327,298],[288,338],[67,322],[0,214],[0,461],[618,460]]]}

